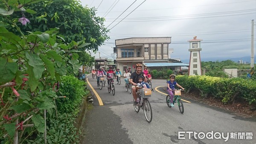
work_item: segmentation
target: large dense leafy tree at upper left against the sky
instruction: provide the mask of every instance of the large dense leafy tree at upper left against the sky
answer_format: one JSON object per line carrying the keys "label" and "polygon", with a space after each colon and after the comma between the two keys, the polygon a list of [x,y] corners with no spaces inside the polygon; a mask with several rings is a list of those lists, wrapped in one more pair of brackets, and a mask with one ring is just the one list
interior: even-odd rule
{"label": "large dense leafy tree at upper left against the sky", "polygon": [[[23,14],[23,17],[26,15],[30,24],[26,26],[21,26],[21,23],[17,24],[23,33],[27,31],[45,32],[51,28],[59,28],[58,34],[64,38],[65,43],[84,39],[85,43],[90,43],[90,45],[79,49],[82,52],[85,50],[96,52],[98,47],[109,39],[107,36],[108,29],[103,24],[105,19],[96,17],[95,8],[83,7],[77,0],[43,1],[33,3],[29,8],[24,12],[15,11],[8,16],[14,22],[17,22],[21,14]],[[6,21],[3,17],[0,20]],[[9,26],[7,29],[19,35],[15,27]]]}

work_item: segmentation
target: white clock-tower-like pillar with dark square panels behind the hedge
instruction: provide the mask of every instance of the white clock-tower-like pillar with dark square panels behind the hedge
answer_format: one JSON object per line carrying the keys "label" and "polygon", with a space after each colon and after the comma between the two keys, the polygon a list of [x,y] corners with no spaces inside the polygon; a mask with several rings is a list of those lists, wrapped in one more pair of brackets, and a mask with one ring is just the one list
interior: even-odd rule
{"label": "white clock-tower-like pillar with dark square panels behind the hedge", "polygon": [[196,39],[196,36],[192,40],[188,40],[189,42],[189,52],[190,52],[190,60],[189,60],[189,75],[201,75],[201,57],[200,51],[202,50],[201,42],[202,40]]}

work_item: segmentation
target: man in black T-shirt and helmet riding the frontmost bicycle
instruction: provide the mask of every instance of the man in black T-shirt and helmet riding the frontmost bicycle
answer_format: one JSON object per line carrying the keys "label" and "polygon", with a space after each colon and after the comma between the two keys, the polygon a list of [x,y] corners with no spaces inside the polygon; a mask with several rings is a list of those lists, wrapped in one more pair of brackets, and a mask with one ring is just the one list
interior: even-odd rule
{"label": "man in black T-shirt and helmet riding the frontmost bicycle", "polygon": [[131,89],[132,89],[132,95],[134,97],[134,105],[137,105],[137,94],[136,94],[136,85],[139,83],[139,76],[142,75],[144,77],[144,82],[147,82],[147,78],[145,78],[145,74],[144,72],[142,72],[142,64],[141,63],[137,63],[136,66],[136,72],[133,72],[131,74],[131,79],[130,79],[130,83],[131,83]]}

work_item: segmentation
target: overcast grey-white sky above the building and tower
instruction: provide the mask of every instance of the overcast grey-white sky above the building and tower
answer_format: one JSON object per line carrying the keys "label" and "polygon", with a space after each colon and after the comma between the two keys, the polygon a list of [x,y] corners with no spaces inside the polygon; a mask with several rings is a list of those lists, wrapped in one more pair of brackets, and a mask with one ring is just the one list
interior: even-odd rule
{"label": "overcast grey-white sky above the building and tower", "polygon": [[[80,1],[83,6],[97,8],[96,16],[105,17],[105,26],[111,29],[108,33],[110,39],[99,47],[101,57],[111,58],[116,39],[172,37],[169,48],[174,49],[174,52],[171,58],[187,62],[190,56],[187,41],[194,36],[203,40],[202,61],[250,56],[251,21],[256,22],[256,0]],[[113,22],[117,17],[119,18]],[[125,19],[122,20],[123,18]],[[256,26],[254,35],[255,33]],[[255,45],[256,36],[254,54]],[[99,58],[99,53],[96,54],[97,57]]]}

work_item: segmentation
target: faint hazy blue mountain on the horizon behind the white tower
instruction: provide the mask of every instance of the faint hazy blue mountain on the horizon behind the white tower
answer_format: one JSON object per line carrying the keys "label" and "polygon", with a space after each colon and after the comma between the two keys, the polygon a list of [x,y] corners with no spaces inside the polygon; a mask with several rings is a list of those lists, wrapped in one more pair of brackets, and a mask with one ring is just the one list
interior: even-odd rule
{"label": "faint hazy blue mountain on the horizon behind the white tower", "polygon": [[[243,62],[250,63],[250,56],[244,56],[241,58],[202,58],[201,61],[224,61],[224,60],[232,60],[234,62],[238,62],[239,60],[243,60]],[[181,60],[183,63],[189,63],[189,59]],[[256,55],[254,56],[254,63],[256,63]]]}

